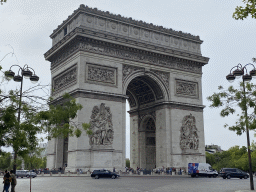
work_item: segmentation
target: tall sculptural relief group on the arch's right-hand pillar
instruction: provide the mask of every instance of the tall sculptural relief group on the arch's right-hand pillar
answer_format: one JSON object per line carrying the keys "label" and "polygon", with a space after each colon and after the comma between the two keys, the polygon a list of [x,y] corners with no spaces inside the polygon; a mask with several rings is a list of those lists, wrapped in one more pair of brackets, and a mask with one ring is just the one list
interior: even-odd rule
{"label": "tall sculptural relief group on the arch's right-hand pillar", "polygon": [[180,148],[182,150],[197,150],[199,138],[196,128],[196,118],[192,114],[187,115],[182,120],[180,129]]}

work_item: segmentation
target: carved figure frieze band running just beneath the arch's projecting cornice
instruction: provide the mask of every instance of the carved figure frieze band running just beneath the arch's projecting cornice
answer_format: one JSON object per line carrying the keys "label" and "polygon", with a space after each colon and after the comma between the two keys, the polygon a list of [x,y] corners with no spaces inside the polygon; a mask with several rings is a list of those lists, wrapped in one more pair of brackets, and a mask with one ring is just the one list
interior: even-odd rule
{"label": "carved figure frieze band running just beneath the arch's projecting cornice", "polygon": [[161,56],[147,51],[129,49],[128,47],[114,46],[107,43],[103,44],[102,42],[93,42],[90,41],[90,39],[81,39],[80,41],[70,43],[69,46],[66,46],[64,50],[62,50],[58,55],[56,54],[52,59],[52,68],[55,68],[58,63],[69,58],[71,54],[74,54],[79,50],[113,56],[121,59],[150,63],[193,73],[201,73],[202,69],[201,65],[194,64],[193,62],[186,60],[182,61],[182,59],[179,58]]}

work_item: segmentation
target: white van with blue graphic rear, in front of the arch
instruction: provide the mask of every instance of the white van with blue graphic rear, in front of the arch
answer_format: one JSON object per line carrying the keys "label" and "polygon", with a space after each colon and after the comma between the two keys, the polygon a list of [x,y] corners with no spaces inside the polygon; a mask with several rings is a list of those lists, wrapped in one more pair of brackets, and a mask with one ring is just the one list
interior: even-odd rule
{"label": "white van with blue graphic rear, in front of the arch", "polygon": [[218,172],[212,169],[211,165],[208,163],[189,163],[188,164],[188,174],[191,177],[217,177]]}

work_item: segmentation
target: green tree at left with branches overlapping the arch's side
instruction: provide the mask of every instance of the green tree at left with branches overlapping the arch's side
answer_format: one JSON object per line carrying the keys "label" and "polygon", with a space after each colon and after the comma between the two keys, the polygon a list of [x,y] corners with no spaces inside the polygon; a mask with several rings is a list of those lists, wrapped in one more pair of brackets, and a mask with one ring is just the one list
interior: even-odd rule
{"label": "green tree at left with branches overlapping the arch's side", "polygon": [[[34,89],[37,90],[37,89]],[[25,93],[32,93],[25,91]],[[38,100],[42,98],[23,93],[21,103],[21,121],[18,122],[19,91],[9,91],[8,95],[0,95],[0,146],[11,146],[14,150],[14,170],[16,171],[17,156],[25,158],[37,148],[37,134],[48,133],[52,137],[77,136],[81,128],[90,134],[89,124],[81,125],[72,122],[77,112],[82,109],[69,94],[64,94],[61,104],[50,104],[45,107]],[[44,107],[42,107],[44,106]]]}

